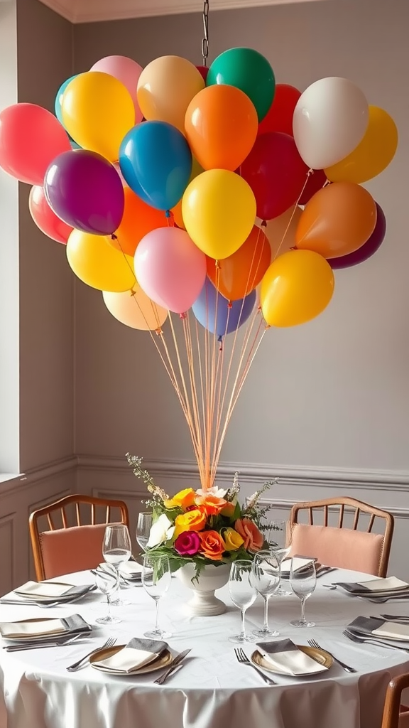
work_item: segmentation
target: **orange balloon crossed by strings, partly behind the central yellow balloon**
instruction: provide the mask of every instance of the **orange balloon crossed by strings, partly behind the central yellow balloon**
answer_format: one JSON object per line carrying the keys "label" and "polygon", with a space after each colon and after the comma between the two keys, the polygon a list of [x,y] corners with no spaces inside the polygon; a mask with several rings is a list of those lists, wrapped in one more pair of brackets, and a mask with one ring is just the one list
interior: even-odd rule
{"label": "orange balloon crossed by strings, partly behind the central yellow balloon", "polygon": [[253,227],[243,245],[228,258],[206,258],[207,275],[229,301],[244,298],[261,279],[271,263],[271,248],[263,230]]}

